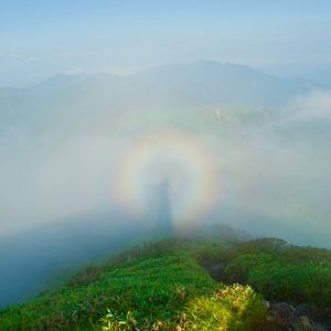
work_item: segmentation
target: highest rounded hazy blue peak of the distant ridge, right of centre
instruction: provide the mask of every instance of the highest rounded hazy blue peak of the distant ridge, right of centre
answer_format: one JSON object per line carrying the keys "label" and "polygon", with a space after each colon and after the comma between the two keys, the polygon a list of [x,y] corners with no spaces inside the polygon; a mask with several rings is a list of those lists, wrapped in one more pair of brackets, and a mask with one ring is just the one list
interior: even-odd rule
{"label": "highest rounded hazy blue peak of the distant ridge, right of centre", "polygon": [[280,78],[248,66],[210,61],[164,65],[129,79],[145,90],[181,95],[202,105],[275,106],[313,88],[308,81]]}

